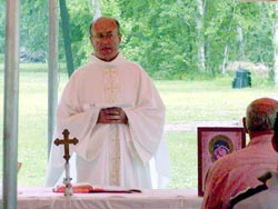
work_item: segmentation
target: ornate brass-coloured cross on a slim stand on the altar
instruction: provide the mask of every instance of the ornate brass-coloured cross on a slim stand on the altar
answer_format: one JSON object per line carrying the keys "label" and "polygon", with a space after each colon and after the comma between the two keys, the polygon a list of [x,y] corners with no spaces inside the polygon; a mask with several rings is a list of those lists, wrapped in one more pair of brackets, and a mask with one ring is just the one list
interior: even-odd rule
{"label": "ornate brass-coloured cross on a slim stand on the altar", "polygon": [[64,155],[63,155],[63,159],[66,160],[64,163],[64,171],[66,171],[66,178],[63,178],[63,185],[64,185],[64,196],[72,196],[72,186],[70,183],[71,178],[70,178],[70,169],[69,169],[69,159],[70,159],[70,155],[69,155],[69,145],[73,143],[77,145],[78,143],[78,139],[73,138],[73,139],[69,139],[69,130],[64,129],[62,131],[63,135],[63,139],[56,139],[54,140],[54,145],[59,146],[59,145],[63,145],[64,146]]}

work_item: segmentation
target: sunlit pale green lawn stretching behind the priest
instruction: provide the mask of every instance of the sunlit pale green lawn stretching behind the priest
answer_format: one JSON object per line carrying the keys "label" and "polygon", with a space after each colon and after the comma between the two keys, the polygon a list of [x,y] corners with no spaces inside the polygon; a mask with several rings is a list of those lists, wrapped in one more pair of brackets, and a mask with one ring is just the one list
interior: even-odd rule
{"label": "sunlit pale green lawn stretching behind the priest", "polygon": [[[28,66],[27,66],[28,68]],[[19,94],[19,143],[18,159],[22,168],[19,186],[43,186],[47,167],[47,109],[48,74],[46,67],[20,72]],[[67,74],[59,74],[59,93]],[[187,125],[203,121],[240,121],[247,104],[259,97],[277,98],[277,89],[258,84],[254,88],[232,89],[231,77],[210,81],[156,81],[167,107],[167,125]],[[256,82],[255,82],[256,83]],[[0,97],[3,98],[3,70],[0,66]],[[0,117],[3,118],[3,102]],[[2,147],[2,120],[0,121],[0,146]],[[172,182],[169,188],[197,188],[197,132],[169,131],[166,133],[171,158]],[[2,176],[2,150],[0,150]]]}

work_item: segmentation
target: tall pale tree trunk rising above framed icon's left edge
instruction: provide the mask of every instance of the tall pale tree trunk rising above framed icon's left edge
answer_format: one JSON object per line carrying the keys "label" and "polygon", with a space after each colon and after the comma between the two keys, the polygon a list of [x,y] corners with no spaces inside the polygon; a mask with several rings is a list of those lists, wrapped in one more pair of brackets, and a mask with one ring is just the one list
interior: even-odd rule
{"label": "tall pale tree trunk rising above framed icon's left edge", "polygon": [[205,41],[203,41],[203,3],[202,0],[197,0],[198,16],[197,16],[197,33],[198,33],[198,62],[200,71],[206,70],[206,60],[205,60]]}

